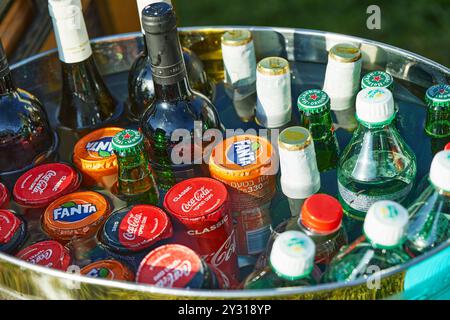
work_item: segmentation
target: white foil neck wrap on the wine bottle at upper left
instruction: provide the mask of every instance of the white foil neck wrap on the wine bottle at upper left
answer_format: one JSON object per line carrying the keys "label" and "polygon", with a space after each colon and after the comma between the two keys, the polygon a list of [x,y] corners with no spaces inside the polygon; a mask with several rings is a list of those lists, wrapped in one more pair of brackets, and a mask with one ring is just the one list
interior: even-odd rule
{"label": "white foil neck wrap on the wine bottle at upper left", "polygon": [[49,0],[59,59],[78,63],[92,55],[80,0]]}

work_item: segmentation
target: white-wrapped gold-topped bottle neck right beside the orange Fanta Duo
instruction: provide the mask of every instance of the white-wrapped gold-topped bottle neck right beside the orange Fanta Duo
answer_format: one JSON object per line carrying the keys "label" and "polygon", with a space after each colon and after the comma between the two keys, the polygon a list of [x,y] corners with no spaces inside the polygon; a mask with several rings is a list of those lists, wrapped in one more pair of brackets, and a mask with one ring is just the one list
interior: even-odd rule
{"label": "white-wrapped gold-topped bottle neck right beside the orange Fanta Duo", "polygon": [[303,127],[290,127],[278,137],[281,188],[286,197],[307,199],[320,189],[314,141]]}

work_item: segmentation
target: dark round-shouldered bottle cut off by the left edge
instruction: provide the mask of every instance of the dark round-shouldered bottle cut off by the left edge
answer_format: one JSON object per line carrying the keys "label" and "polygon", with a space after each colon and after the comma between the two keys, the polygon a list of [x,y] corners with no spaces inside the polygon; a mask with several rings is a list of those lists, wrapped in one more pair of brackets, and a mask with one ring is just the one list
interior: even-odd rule
{"label": "dark round-shouldered bottle cut off by the left edge", "polygon": [[[57,135],[44,107],[30,93],[16,88],[0,40],[0,177],[49,160]],[[18,178],[18,177],[16,177]],[[10,177],[14,180],[13,177]],[[5,181],[9,184],[9,181]],[[14,184],[15,181],[11,181]]]}

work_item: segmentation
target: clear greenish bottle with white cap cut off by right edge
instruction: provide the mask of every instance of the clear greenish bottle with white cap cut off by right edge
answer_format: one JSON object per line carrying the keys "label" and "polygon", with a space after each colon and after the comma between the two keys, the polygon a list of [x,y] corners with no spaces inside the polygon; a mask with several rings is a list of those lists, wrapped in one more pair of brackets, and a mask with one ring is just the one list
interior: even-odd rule
{"label": "clear greenish bottle with white cap cut off by right edge", "polygon": [[450,239],[450,151],[434,157],[429,185],[408,211],[406,247],[410,255],[420,255]]}

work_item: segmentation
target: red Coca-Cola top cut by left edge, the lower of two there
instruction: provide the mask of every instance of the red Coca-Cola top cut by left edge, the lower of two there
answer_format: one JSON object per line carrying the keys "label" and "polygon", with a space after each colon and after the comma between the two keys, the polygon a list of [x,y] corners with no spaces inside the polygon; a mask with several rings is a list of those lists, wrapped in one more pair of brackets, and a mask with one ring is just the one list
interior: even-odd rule
{"label": "red Coca-Cola top cut by left edge, the lower of two there", "polygon": [[0,252],[12,253],[24,243],[27,226],[9,210],[0,210]]}

